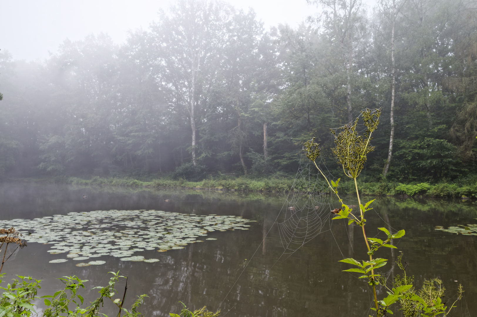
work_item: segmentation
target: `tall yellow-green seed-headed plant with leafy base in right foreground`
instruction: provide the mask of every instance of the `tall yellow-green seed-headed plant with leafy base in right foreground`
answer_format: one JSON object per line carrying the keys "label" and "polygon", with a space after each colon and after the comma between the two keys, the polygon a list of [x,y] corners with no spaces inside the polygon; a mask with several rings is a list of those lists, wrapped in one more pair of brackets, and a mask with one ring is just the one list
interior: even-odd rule
{"label": "tall yellow-green seed-headed plant with leafy base in right foreground", "polygon": [[[332,148],[332,152],[337,158],[337,163],[342,165],[343,172],[348,178],[352,178],[354,181],[356,196],[358,198],[359,204],[359,214],[353,212],[353,208],[350,208],[348,205],[343,203],[342,198],[338,194],[338,185],[341,178],[338,178],[336,181],[328,179],[321,169],[316,164],[315,160],[321,155],[320,144],[315,143],[315,138],[307,141],[303,144],[303,152],[306,157],[308,157],[321,173],[323,178],[326,180],[331,192],[338,197],[339,202],[342,204],[342,208],[336,208],[331,212],[336,214],[332,219],[347,219],[348,225],[358,225],[361,227],[363,232],[364,242],[368,249],[367,256],[369,260],[355,260],[353,258],[346,258],[340,262],[351,264],[355,267],[344,270],[344,272],[353,272],[358,273],[360,276],[358,278],[365,278],[370,286],[373,288],[373,297],[374,297],[374,307],[371,307],[376,312],[378,317],[384,317],[387,314],[393,314],[389,309],[390,306],[399,302],[401,304],[401,310],[403,310],[405,317],[411,316],[425,316],[425,317],[434,317],[434,316],[447,316],[452,307],[455,307],[452,304],[451,307],[447,310],[447,307],[441,303],[440,293],[439,296],[423,299],[415,293],[414,286],[412,285],[413,280],[404,277],[404,279],[394,279],[393,286],[390,288],[387,286],[386,278],[375,270],[381,268],[387,264],[387,259],[380,257],[373,257],[376,251],[381,247],[394,248],[392,241],[404,236],[405,231],[399,230],[396,233],[391,233],[388,229],[381,227],[378,228],[381,230],[385,238],[368,238],[366,236],[365,224],[366,217],[365,213],[373,208],[370,205],[375,201],[375,199],[368,201],[365,204],[362,204],[361,197],[358,191],[358,184],[356,179],[360,175],[361,171],[364,168],[366,163],[367,154],[374,150],[374,146],[370,144],[373,140],[373,133],[376,131],[379,125],[379,117],[381,116],[381,109],[365,109],[361,111],[361,117],[364,121],[364,126],[366,130],[363,134],[360,135],[356,128],[358,127],[358,122],[360,117],[356,118],[354,122],[347,123],[336,130],[330,129],[331,133],[334,135],[335,147]],[[339,133],[337,133],[339,131]],[[401,267],[401,257],[399,257],[398,266]],[[405,270],[404,267],[401,267]],[[404,275],[405,276],[405,275]],[[410,283],[408,283],[410,282]],[[434,283],[434,280],[431,280]],[[431,283],[428,282],[427,284]],[[427,285],[425,283],[425,285]],[[376,295],[376,286],[383,285],[387,288],[387,297],[384,297],[382,300],[378,300]],[[434,285],[434,284],[433,284]],[[439,284],[440,288],[440,284]],[[462,295],[462,286],[459,286],[459,295],[457,299],[460,299]],[[419,293],[421,294],[421,293]],[[425,294],[425,292],[422,292]],[[434,294],[434,293],[433,293]],[[437,293],[436,293],[437,294]],[[413,309],[405,309],[405,307],[413,307]]]}

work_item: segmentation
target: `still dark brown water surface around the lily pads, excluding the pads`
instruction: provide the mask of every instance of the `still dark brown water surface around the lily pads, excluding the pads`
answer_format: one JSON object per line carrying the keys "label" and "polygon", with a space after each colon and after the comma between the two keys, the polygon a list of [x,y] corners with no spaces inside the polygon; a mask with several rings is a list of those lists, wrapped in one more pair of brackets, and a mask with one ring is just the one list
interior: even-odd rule
{"label": "still dark brown water surface around the lily pads, excluding the pads", "polygon": [[[83,195],[88,198],[83,199]],[[370,289],[363,279],[341,272],[350,267],[337,262],[343,256],[365,258],[359,228],[350,230],[342,221],[329,222],[326,228],[329,230],[291,256],[282,256],[283,246],[274,222],[285,200],[284,196],[208,191],[2,184],[0,220],[144,209],[233,215],[256,221],[248,223],[249,230],[210,232],[201,238],[217,240],[202,239],[204,242],[188,244],[184,249],[157,252],[156,248],[134,254],[159,259],[155,263],[103,256],[104,265],[77,267],[77,261],[71,260],[52,264],[49,261],[58,255],[47,252],[51,245],[30,243],[5,264],[3,272],[7,273],[7,279],[16,274],[42,279],[39,293],[42,296],[62,286],[57,280],[61,276],[88,279],[87,286],[91,287],[87,289],[90,289],[105,286],[109,271],[120,271],[129,276],[128,305],[135,295],[149,295],[140,310],[145,316],[178,313],[179,300],[193,309],[204,305],[210,310],[220,308],[229,317],[368,316],[372,302]],[[395,231],[405,229],[406,235],[397,246],[410,263],[407,274],[415,275],[418,286],[425,278],[439,277],[451,296],[456,293],[458,283],[462,283],[465,298],[458,302],[452,316],[476,316],[477,236],[456,235],[435,227],[477,224],[477,205],[469,201],[379,198],[374,211],[368,215],[368,236],[377,235],[373,228],[378,226],[390,226]],[[391,266],[397,255],[397,251],[392,253],[389,249],[377,255],[389,259],[386,270],[390,270],[390,277],[401,274],[397,267]],[[119,290],[124,283],[117,286]],[[381,296],[385,294],[384,289],[378,291]],[[86,299],[92,299],[96,293],[86,290],[84,294]],[[114,314],[109,305],[102,312]]]}

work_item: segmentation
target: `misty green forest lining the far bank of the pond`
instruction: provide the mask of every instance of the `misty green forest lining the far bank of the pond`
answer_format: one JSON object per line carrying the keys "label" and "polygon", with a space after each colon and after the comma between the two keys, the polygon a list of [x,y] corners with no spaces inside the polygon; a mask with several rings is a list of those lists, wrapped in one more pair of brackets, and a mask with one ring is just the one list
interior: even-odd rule
{"label": "misty green forest lining the far bank of the pond", "polygon": [[330,128],[381,108],[365,179],[477,175],[477,2],[313,0],[265,30],[252,9],[180,0],[125,43],[0,51],[2,178],[296,172],[302,144],[338,169]]}

